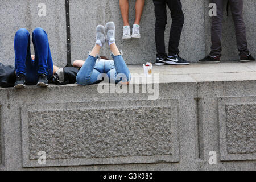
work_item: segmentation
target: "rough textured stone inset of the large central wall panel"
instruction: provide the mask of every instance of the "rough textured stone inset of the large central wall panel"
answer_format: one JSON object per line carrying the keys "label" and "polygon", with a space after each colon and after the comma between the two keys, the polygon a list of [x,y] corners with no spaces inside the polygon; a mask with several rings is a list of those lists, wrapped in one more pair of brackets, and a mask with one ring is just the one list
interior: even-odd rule
{"label": "rough textured stone inset of the large central wall panel", "polygon": [[165,107],[31,111],[28,115],[31,160],[38,159],[41,150],[47,159],[172,155],[173,118]]}

